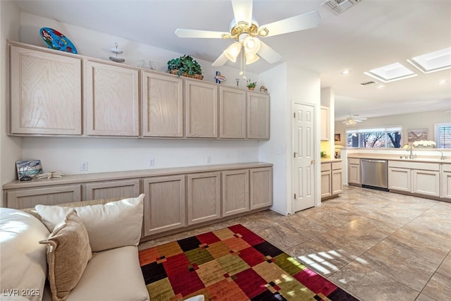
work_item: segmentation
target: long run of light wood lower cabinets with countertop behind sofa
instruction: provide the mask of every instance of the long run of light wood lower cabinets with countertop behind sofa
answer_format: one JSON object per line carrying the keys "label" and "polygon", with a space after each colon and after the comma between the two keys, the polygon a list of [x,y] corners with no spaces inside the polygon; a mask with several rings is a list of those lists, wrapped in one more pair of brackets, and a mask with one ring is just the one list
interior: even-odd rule
{"label": "long run of light wood lower cabinets with countertop behind sofa", "polygon": [[17,209],[144,193],[145,240],[268,209],[273,171],[263,162],[191,166],[16,180],[3,189],[6,207]]}

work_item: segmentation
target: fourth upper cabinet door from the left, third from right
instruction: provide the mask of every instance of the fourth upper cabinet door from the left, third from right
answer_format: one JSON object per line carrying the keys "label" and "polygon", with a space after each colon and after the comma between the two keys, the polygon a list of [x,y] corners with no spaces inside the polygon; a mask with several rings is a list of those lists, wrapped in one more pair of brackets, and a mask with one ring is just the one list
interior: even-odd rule
{"label": "fourth upper cabinet door from the left, third from right", "polygon": [[186,137],[218,137],[218,86],[185,80]]}

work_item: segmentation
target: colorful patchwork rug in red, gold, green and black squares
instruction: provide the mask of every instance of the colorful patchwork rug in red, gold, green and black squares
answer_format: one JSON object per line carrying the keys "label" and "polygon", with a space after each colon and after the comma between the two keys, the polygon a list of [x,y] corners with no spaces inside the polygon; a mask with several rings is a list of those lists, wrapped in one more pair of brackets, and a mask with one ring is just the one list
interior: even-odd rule
{"label": "colorful patchwork rug in red, gold, green and black squares", "polygon": [[140,251],[150,300],[357,300],[242,225]]}

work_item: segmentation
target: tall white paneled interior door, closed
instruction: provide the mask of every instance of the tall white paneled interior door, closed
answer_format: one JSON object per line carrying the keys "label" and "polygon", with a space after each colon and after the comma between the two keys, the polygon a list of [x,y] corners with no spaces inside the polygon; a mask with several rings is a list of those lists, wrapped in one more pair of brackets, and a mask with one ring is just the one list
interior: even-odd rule
{"label": "tall white paneled interior door, closed", "polygon": [[315,205],[315,107],[293,103],[293,211]]}

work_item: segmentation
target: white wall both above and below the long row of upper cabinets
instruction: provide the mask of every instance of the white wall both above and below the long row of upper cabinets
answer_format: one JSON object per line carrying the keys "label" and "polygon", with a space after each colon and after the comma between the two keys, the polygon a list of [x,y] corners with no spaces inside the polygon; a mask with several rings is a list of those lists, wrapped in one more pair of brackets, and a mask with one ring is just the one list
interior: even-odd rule
{"label": "white wall both above and below the long row of upper cabinets", "polygon": [[[124,64],[131,66],[139,67],[142,59],[151,59],[156,70],[166,72],[167,62],[183,55],[29,13],[21,13],[20,42],[44,47],[45,44],[39,36],[41,27],[61,31],[75,44],[79,54],[97,59],[108,60],[111,56],[109,49],[114,47],[114,42],[118,42],[119,48],[124,51],[121,54],[125,59]],[[214,68],[211,62],[198,61],[204,72],[204,81],[214,82],[216,70],[220,70],[228,78],[221,85],[236,87],[235,78],[238,78],[238,69],[228,66]],[[259,80],[258,75],[254,73],[247,73],[247,78]],[[244,80],[241,80],[240,84],[245,88]],[[264,85],[264,82],[259,80],[259,84]],[[148,166],[149,158],[154,158],[155,161],[152,168],[206,165],[207,156],[211,157],[211,164],[259,161],[257,141],[91,137],[24,137],[22,140],[21,159],[40,159],[44,171],[62,171],[66,174],[146,169],[151,168]],[[88,162],[88,171],[80,171],[82,161]]]}

